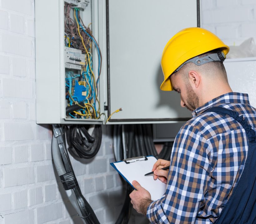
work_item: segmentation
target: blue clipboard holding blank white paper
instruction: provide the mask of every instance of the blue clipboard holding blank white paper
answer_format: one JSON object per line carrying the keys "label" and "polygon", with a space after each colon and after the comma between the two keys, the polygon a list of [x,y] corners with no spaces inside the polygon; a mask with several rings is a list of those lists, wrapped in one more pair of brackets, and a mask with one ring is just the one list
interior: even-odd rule
{"label": "blue clipboard holding blank white paper", "polygon": [[159,179],[154,180],[153,175],[144,175],[152,170],[156,161],[155,156],[139,156],[114,162],[110,165],[113,166],[131,186],[133,180],[138,181],[139,184],[150,193],[151,199],[155,201],[165,194],[166,184]]}

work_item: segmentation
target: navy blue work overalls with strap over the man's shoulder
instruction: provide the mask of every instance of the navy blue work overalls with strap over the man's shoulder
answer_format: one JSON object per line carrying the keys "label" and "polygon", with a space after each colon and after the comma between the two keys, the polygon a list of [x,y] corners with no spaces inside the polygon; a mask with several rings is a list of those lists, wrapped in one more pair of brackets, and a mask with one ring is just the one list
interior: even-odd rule
{"label": "navy blue work overalls with strap over the man's shoulder", "polygon": [[223,116],[229,115],[239,122],[249,139],[247,158],[243,172],[227,203],[214,224],[253,224],[256,223],[256,141],[255,131],[243,119],[243,115],[223,107],[212,107],[204,111]]}

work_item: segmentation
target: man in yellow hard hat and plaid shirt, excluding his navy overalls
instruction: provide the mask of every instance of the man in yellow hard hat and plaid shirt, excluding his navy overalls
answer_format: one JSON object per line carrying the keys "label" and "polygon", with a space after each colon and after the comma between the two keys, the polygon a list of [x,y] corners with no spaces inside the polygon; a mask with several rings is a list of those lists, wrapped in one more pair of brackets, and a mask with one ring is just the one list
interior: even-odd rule
{"label": "man in yellow hard hat and plaid shirt, excluding his navy overalls", "polygon": [[[153,166],[154,179],[166,183],[165,195],[152,201],[148,191],[132,182],[131,203],[151,223],[213,223],[238,183],[248,153],[246,133],[232,117],[206,112],[213,106],[237,111],[255,130],[248,95],[229,86],[223,65],[228,52],[227,45],[202,28],[181,30],[165,46],[160,88],[178,92],[193,118],[177,134],[170,161]],[[160,170],[165,166],[170,170]]]}

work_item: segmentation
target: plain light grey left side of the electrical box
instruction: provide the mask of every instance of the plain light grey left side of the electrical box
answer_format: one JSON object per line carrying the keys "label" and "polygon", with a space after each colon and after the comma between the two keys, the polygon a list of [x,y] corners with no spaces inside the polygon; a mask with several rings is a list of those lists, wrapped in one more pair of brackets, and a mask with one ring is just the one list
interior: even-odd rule
{"label": "plain light grey left side of the electrical box", "polygon": [[60,122],[60,39],[59,13],[56,13],[60,8],[59,1],[35,1],[37,123]]}

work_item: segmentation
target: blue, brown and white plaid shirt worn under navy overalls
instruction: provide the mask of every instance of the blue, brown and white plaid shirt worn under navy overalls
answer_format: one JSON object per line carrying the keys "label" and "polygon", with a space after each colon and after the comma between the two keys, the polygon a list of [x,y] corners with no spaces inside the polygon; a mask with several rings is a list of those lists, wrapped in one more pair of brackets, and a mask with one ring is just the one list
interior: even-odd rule
{"label": "blue, brown and white plaid shirt worn under navy overalls", "polygon": [[255,130],[247,94],[227,93],[194,110],[175,138],[166,193],[147,208],[151,223],[212,223],[232,194],[249,141],[233,118],[204,113],[212,106],[238,111]]}

